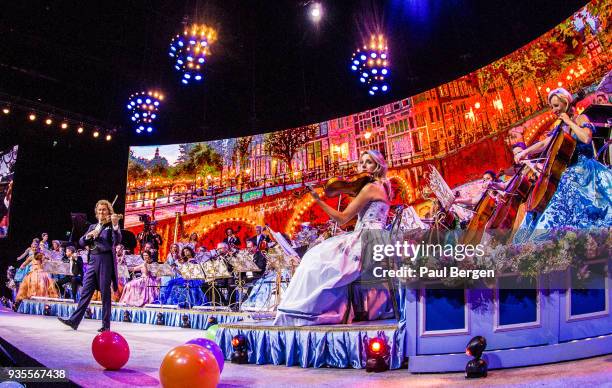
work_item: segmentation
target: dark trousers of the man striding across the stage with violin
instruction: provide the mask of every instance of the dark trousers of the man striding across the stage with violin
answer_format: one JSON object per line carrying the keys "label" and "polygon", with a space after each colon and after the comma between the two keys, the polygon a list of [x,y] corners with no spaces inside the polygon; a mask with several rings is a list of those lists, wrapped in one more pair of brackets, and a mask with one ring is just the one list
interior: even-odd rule
{"label": "dark trousers of the man striding across the stage with violin", "polygon": [[83,279],[81,299],[79,299],[76,310],[70,316],[70,320],[77,326],[81,323],[94,292],[100,290],[100,294],[102,294],[102,326],[110,328],[113,271],[114,262],[111,253],[91,255],[89,267],[85,273],[85,279]]}

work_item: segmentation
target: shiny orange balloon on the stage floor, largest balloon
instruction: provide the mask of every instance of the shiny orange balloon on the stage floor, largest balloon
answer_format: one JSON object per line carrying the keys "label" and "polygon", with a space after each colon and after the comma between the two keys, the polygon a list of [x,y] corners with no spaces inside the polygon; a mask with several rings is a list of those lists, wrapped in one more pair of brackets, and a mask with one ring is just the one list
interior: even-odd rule
{"label": "shiny orange balloon on the stage floor, largest balloon", "polygon": [[180,345],[166,354],[159,368],[164,388],[214,388],[219,384],[219,365],[210,350]]}

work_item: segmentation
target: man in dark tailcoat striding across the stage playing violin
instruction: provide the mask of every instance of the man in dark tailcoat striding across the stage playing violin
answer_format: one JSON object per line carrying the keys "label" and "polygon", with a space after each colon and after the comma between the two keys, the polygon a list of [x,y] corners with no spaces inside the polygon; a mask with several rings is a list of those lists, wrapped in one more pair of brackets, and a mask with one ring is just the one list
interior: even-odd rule
{"label": "man in dark tailcoat striding across the stage playing violin", "polygon": [[114,214],[112,204],[105,199],[96,203],[96,218],[98,223],[90,225],[87,233],[79,240],[82,246],[90,248],[81,299],[70,318],[58,317],[58,319],[76,330],[94,291],[99,290],[102,294],[102,327],[98,331],[102,332],[110,330],[111,283],[114,291],[117,291],[119,284],[114,252],[115,245],[121,243],[121,230],[119,216]]}

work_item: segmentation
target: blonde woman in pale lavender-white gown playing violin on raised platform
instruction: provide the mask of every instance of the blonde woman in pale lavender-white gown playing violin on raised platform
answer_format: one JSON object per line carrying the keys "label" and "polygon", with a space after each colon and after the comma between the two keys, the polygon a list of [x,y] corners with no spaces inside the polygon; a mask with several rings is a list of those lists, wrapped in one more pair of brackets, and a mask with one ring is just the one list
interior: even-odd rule
{"label": "blonde woman in pale lavender-white gown playing violin on raised platform", "polygon": [[[316,203],[343,225],[358,216],[355,230],[332,237],[306,252],[298,266],[281,303],[274,325],[308,326],[342,323],[348,303],[348,286],[359,279],[362,268],[361,234],[368,229],[383,229],[387,222],[391,185],[386,177],[387,163],[376,150],[366,151],[359,158],[360,172],[369,172],[375,178],[361,189],[355,199],[338,211],[322,201],[314,190]],[[365,293],[364,293],[365,291]],[[389,310],[388,290],[371,289],[357,292],[368,320],[385,318]],[[347,322],[354,318],[353,309]]]}

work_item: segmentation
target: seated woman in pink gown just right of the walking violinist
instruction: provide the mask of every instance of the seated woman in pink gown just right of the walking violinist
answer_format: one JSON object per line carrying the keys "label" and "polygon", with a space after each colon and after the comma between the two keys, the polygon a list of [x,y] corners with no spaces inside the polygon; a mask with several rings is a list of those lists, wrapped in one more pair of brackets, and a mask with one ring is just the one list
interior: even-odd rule
{"label": "seated woman in pink gown just right of the walking violinist", "polygon": [[134,270],[140,270],[142,275],[125,285],[121,299],[119,299],[121,303],[128,306],[144,306],[159,298],[159,280],[150,272],[153,259],[147,251],[142,252],[141,255],[144,263],[134,267]]}

